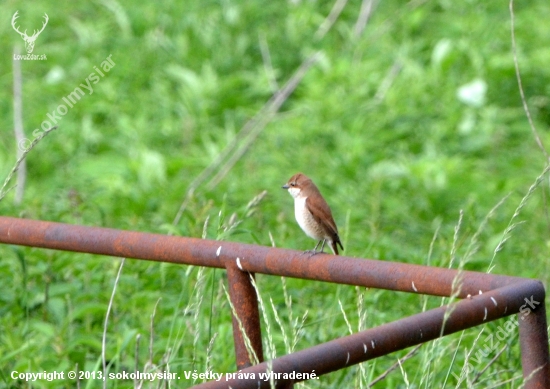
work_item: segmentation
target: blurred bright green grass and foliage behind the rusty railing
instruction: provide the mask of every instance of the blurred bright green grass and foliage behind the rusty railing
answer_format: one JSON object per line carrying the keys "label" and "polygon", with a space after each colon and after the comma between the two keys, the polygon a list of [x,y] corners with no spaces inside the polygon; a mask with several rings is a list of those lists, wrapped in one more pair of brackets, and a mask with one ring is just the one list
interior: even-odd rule
{"label": "blurred bright green grass and foliage behind the rusty railing", "polygon": [[[10,192],[2,215],[304,250],[314,242],[299,231],[292,199],[280,189],[302,171],[330,203],[345,255],[482,272],[494,266],[493,273],[548,284],[547,177],[529,193],[546,160],[522,108],[506,2],[384,1],[359,37],[360,4],[349,2],[322,39],[315,34],[332,2],[32,4],[0,5],[2,177],[17,159],[11,52],[24,47],[9,23],[16,10],[21,30],[49,16],[34,49],[48,59],[21,63],[30,140],[109,55],[115,66],[31,150],[24,201],[14,205]],[[550,6],[542,0],[514,6],[527,104],[548,146]],[[317,50],[319,61],[273,120],[217,185],[209,183],[220,170],[199,183],[174,225],[194,180],[234,140],[237,149],[245,147],[250,138],[240,130]],[[486,93],[459,98],[473,85],[486,85]],[[0,387],[74,387],[17,382],[14,370],[101,369],[119,263],[0,247]],[[257,284],[264,349],[277,356],[344,336],[349,326],[371,328],[441,304],[263,275]],[[221,270],[126,260],[109,317],[111,371],[234,371],[224,285]],[[488,335],[507,320],[424,345],[375,387],[520,387],[517,331],[498,347],[488,345]],[[408,351],[303,387],[366,388]],[[468,362],[472,370],[458,383]]]}

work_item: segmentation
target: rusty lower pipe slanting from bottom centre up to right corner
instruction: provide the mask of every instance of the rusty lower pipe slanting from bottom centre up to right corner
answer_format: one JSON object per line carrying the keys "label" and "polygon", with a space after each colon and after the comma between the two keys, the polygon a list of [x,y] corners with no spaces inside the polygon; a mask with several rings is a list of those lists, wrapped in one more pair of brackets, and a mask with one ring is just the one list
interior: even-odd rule
{"label": "rusty lower pipe slanting from bottom centre up to right corner", "polygon": [[[251,377],[251,373],[254,373],[255,379],[226,380],[227,376],[225,376],[219,382],[210,381],[193,388],[269,388],[269,381],[259,379],[260,373],[264,374],[269,371],[300,374],[315,372],[316,376],[320,376],[513,314],[525,304],[525,298],[534,296],[535,299],[540,299],[538,301],[543,301],[544,293],[544,287],[540,282],[526,280],[519,284],[474,296],[471,299],[464,299],[456,304],[432,309],[276,358],[270,361],[270,367],[268,367],[268,362],[264,362],[241,371],[241,374],[249,374],[249,377]],[[538,330],[543,330],[546,333],[546,328],[538,327]],[[537,335],[541,334],[537,333]],[[548,354],[539,354],[537,357],[540,359],[536,362],[533,361],[536,368],[540,367],[541,361],[548,361]],[[525,374],[532,373],[532,370],[525,370],[524,366]],[[542,376],[547,379],[549,374],[548,366],[543,366],[532,380],[526,382],[525,388],[547,388],[544,386],[546,381]],[[299,381],[302,379],[285,380],[281,378],[277,380],[276,387],[283,387],[289,382]]]}

